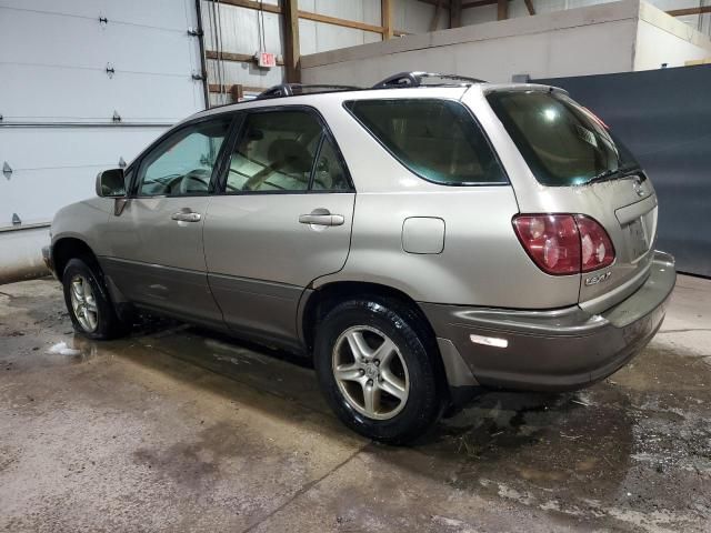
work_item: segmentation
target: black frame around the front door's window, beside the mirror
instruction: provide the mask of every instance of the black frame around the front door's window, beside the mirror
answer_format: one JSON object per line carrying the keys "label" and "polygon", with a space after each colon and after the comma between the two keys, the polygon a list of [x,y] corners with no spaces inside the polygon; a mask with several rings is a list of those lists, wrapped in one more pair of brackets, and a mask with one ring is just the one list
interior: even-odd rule
{"label": "black frame around the front door's window, beside the mirror", "polygon": [[[236,123],[239,120],[240,113],[241,111],[232,111],[232,112],[222,112],[222,113],[208,114],[204,117],[198,117],[196,119],[181,122],[180,124],[174,125],[173,128],[166,131],[162,135],[156,139],[151,144],[149,144],[148,148],[143,150],[138,158],[136,158],[136,160],[130,164],[130,167],[126,169],[127,172],[129,171],[129,169],[134,170],[134,174],[131,178],[130,189],[129,191],[127,191],[126,198],[127,199],[206,198],[214,194],[216,178],[218,175],[216,171],[218,171],[222,165],[222,159],[224,158],[224,151],[226,151],[227,144],[230,141]],[[192,128],[194,125],[198,125],[204,122],[224,120],[226,118],[229,119],[228,131],[227,131],[227,134],[224,135],[224,140],[222,141],[222,145],[220,147],[220,151],[218,152],[218,155],[214,160],[214,165],[212,167],[212,173],[210,174],[210,182],[208,183],[207,193],[204,194],[139,194],[138,193],[139,177],[140,177],[141,169],[143,167],[143,162],[146,158],[153,152],[153,150],[156,150],[158,147],[160,147],[160,144],[163,143],[163,141],[172,137],[174,133],[178,133],[187,128]]]}

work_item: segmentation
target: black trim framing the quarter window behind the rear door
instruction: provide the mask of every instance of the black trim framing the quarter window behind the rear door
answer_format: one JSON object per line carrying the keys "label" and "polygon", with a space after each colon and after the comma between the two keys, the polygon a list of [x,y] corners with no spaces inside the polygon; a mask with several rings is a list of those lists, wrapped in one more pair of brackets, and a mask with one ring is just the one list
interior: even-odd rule
{"label": "black trim framing the quarter window behind the rear door", "polygon": [[[421,173],[419,173],[419,172],[414,171],[413,169],[411,169],[410,167],[408,167],[395,153],[393,153],[392,150],[390,150],[390,148],[384,142],[382,142],[382,140],[380,140],[380,138],[373,131],[371,131],[370,128],[368,128],[368,125],[362,120],[360,120],[358,117],[356,117],[356,114],[353,113],[353,111],[351,109],[349,109],[349,104],[353,104],[353,103],[357,103],[357,102],[402,102],[402,101],[418,101],[418,100],[419,101],[452,102],[452,103],[463,108],[464,111],[467,112],[467,114],[469,114],[469,117],[472,119],[474,125],[481,132],[481,135],[483,137],[484,141],[487,142],[487,145],[491,150],[491,153],[492,153],[494,160],[499,164],[499,168],[501,169],[501,174],[503,175],[505,181],[501,181],[501,182],[494,182],[494,181],[468,181],[468,182],[462,182],[462,183],[444,183],[444,182],[441,182],[441,181],[432,180],[431,178],[428,178],[425,175],[422,175]],[[380,144],[383,148],[383,150],[385,150],[388,152],[388,154],[392,159],[398,161],[398,163],[400,163],[408,172],[411,172],[412,174],[417,175],[421,180],[427,181],[428,183],[433,183],[435,185],[442,185],[442,187],[511,187],[511,180],[509,178],[509,173],[507,172],[507,169],[503,165],[503,162],[501,161],[501,158],[499,157],[499,153],[497,152],[493,143],[491,142],[491,139],[489,138],[489,134],[487,133],[487,130],[484,130],[482,128],[481,122],[479,122],[479,119],[477,119],[477,117],[471,111],[471,109],[469,109],[468,105],[464,105],[461,100],[453,99],[453,98],[441,98],[441,97],[359,98],[359,99],[344,100],[341,103],[341,105],[348,112],[348,114],[353,120],[356,120],[356,122],[358,122],[358,124],[363,130],[365,130],[368,132],[368,134],[370,137],[372,137],[375,140],[375,142],[378,142],[378,144]]]}

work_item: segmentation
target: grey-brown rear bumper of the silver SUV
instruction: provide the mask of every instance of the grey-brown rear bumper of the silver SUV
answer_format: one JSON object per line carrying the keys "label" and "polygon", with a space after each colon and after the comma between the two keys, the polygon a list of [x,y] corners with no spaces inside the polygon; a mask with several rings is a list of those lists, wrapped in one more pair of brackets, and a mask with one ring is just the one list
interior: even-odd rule
{"label": "grey-brown rear bumper of the silver SUV", "polygon": [[[461,358],[460,364],[445,361],[450,385],[574,390],[612,374],[644,348],[664,319],[675,280],[673,258],[654,252],[644,284],[600,314],[578,305],[555,311],[421,305],[440,346],[451,341]],[[475,343],[471,335],[499,346]]]}

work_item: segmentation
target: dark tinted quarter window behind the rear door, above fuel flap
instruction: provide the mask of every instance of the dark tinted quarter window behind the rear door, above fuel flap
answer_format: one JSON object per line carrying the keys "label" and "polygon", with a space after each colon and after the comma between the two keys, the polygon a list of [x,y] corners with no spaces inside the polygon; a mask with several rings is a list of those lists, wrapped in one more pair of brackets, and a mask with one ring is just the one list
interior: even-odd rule
{"label": "dark tinted quarter window behind the rear door, above fuel flap", "polygon": [[403,165],[445,185],[507,183],[489,141],[459,102],[352,100],[358,121]]}

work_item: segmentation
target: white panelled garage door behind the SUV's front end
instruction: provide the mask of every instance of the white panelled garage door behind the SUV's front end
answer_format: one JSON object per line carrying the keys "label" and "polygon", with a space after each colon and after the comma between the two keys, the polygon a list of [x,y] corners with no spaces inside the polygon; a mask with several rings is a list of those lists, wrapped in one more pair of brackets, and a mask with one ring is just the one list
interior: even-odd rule
{"label": "white panelled garage door behind the SUV's front end", "polygon": [[194,0],[0,0],[0,237],[204,109],[196,26]]}

